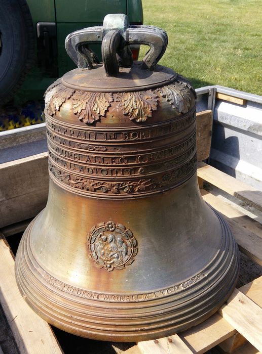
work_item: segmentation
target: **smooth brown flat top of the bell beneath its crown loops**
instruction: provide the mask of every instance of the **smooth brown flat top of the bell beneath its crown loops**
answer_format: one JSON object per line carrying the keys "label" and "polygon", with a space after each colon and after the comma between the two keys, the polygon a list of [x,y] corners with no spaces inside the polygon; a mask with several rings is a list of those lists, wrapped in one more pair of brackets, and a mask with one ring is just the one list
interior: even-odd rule
{"label": "smooth brown flat top of the bell beneath its crown loops", "polygon": [[102,64],[93,70],[77,68],[65,73],[61,83],[70,89],[88,92],[134,92],[168,85],[178,76],[162,65],[156,65],[154,71],[142,70],[140,66],[141,62],[135,61],[130,68],[120,68],[117,77],[106,76]]}

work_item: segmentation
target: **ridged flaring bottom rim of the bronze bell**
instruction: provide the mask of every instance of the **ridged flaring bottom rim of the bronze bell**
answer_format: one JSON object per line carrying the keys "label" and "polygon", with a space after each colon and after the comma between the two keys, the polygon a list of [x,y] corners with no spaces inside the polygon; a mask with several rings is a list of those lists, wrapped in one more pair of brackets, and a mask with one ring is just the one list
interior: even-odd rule
{"label": "ridged flaring bottom rim of the bronze bell", "polygon": [[[228,258],[225,260],[226,265],[222,262],[222,266],[219,265],[214,269],[217,276],[204,290],[201,288],[199,291],[198,283],[194,283],[185,298],[177,299],[173,296],[170,302],[157,303],[155,306],[153,304],[149,312],[146,307],[142,307],[144,310],[142,313],[139,309],[135,311],[134,307],[128,312],[127,308],[121,308],[121,303],[115,303],[112,308],[101,301],[91,300],[93,303],[90,304],[90,300],[79,300],[72,294],[63,296],[61,290],[55,289],[44,278],[40,280],[41,276],[39,278],[36,274],[39,271],[36,268],[37,264],[30,269],[28,260],[31,262],[31,259],[28,258],[28,254],[22,254],[23,251],[27,251],[25,237],[19,246],[16,261],[19,290],[27,303],[42,318],[62,330],[82,337],[129,342],[180,332],[214,314],[230,296],[237,282],[240,263],[238,247],[226,222],[219,214],[217,216],[223,224],[224,237],[227,239],[219,253],[220,257]],[[140,302],[140,305],[142,303]],[[164,310],[167,310],[165,314],[163,306]],[[141,306],[139,307],[141,309]],[[115,316],[112,317],[110,314]]]}

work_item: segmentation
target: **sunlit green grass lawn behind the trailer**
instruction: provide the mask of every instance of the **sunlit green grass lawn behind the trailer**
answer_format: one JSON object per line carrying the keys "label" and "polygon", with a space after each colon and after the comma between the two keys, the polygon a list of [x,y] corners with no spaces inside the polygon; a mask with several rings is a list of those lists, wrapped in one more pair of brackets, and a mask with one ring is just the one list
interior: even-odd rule
{"label": "sunlit green grass lawn behind the trailer", "polygon": [[195,88],[219,84],[262,95],[261,0],[142,2],[144,24],[163,28],[169,37],[160,64]]}

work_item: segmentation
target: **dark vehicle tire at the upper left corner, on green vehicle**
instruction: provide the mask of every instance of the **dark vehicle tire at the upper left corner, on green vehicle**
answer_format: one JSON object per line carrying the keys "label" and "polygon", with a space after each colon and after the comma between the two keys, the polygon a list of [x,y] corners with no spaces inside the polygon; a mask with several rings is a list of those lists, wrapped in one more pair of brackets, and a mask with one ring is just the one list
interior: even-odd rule
{"label": "dark vehicle tire at the upper left corner, on green vehicle", "polygon": [[33,23],[25,0],[0,0],[0,106],[13,98],[34,62]]}

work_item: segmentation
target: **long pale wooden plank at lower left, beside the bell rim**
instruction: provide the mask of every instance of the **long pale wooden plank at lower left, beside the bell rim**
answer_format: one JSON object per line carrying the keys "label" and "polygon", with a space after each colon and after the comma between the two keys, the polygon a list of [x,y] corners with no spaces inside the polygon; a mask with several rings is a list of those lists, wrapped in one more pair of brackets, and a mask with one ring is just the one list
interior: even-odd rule
{"label": "long pale wooden plank at lower left, beside the bell rim", "polygon": [[48,325],[22,298],[15,280],[15,262],[4,237],[0,238],[0,301],[21,354],[61,354]]}

